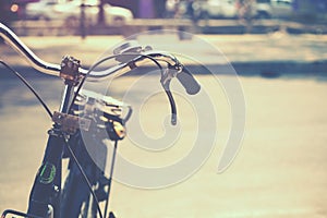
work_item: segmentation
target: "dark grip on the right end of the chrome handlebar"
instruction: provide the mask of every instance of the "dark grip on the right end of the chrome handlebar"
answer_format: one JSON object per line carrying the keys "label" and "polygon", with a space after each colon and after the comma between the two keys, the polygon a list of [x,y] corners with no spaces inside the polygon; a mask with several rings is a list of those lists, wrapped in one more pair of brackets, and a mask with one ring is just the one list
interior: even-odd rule
{"label": "dark grip on the right end of the chrome handlebar", "polygon": [[186,68],[184,68],[182,72],[177,74],[177,78],[181,82],[189,95],[195,95],[199,92],[199,84]]}

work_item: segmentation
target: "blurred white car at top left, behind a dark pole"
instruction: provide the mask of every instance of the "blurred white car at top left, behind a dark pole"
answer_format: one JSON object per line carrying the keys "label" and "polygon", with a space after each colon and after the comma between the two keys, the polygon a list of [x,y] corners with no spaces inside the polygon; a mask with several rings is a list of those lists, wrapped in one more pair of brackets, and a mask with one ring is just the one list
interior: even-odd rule
{"label": "blurred white car at top left, behind a dark pole", "polygon": [[[86,25],[95,25],[98,21],[99,0],[73,0],[58,2],[56,0],[41,0],[26,5],[26,17],[31,20],[63,21],[66,26],[78,26],[81,20],[81,5],[85,4]],[[118,25],[133,20],[133,13],[124,8],[104,5],[105,22]]]}

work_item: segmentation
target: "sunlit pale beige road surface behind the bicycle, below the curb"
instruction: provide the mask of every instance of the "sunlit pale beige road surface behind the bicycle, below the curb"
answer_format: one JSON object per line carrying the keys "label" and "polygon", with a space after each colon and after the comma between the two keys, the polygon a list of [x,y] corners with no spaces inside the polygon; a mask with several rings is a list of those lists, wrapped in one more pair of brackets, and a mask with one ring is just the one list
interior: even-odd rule
{"label": "sunlit pale beige road surface behind the bicycle, below the curb", "polygon": [[[209,75],[198,75],[219,109],[218,137],[206,164],[187,180],[159,190],[134,189],[114,182],[111,207],[119,217],[327,217],[326,81],[312,77],[267,80],[240,77],[246,100],[246,131],[232,166],[217,174],[219,158],[230,128],[230,108],[221,86]],[[220,80],[229,76],[221,76]],[[135,77],[117,82],[120,94]],[[156,77],[152,78],[156,80]],[[37,88],[52,108],[60,82],[38,80]],[[50,122],[19,82],[0,82],[0,209],[25,209],[46,142]],[[137,94],[138,95],[138,94]],[[187,101],[179,98],[183,130],[181,140],[194,138]],[[149,105],[146,105],[149,104]],[[166,99],[153,96],[145,104],[144,130],[162,134]],[[186,104],[186,105],[185,105]],[[192,110],[191,110],[192,112]],[[144,116],[144,113],[141,113]],[[211,117],[206,122],[213,122]],[[239,118],[241,119],[241,118]],[[158,125],[156,125],[158,124]],[[157,126],[157,128],[154,128]],[[122,156],[148,167],[166,166],[187,154],[187,144],[161,152],[144,152],[126,142]],[[150,178],[148,178],[150,179]]]}

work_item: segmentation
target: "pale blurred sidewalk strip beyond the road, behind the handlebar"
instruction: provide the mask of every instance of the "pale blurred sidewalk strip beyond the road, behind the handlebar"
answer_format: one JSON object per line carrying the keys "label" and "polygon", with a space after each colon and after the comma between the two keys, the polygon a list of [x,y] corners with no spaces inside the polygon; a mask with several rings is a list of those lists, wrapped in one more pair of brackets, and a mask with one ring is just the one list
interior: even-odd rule
{"label": "pale blurred sidewalk strip beyond the road, behind the handlebar", "polygon": [[[101,53],[123,40],[123,37],[89,36],[82,39],[71,36],[21,39],[48,62],[59,63],[64,55],[70,55],[81,59],[84,66],[89,66]],[[327,75],[326,35],[289,35],[281,32],[270,35],[197,35],[191,40],[180,40],[177,35],[149,35],[140,40],[154,48],[164,46],[165,50],[193,57],[204,64],[223,65],[229,61],[241,75],[265,73]],[[213,45],[216,49],[208,45]],[[8,46],[0,45],[0,58],[9,64],[17,69],[28,66],[28,63]],[[226,59],[221,58],[221,55]]]}

